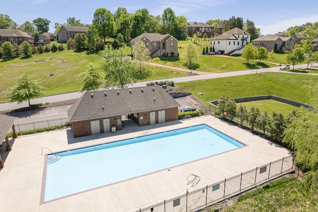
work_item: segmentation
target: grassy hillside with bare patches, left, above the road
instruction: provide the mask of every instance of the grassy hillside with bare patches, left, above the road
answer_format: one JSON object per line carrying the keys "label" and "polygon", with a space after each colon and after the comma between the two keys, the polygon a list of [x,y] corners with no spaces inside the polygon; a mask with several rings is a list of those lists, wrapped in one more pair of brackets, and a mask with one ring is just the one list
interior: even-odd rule
{"label": "grassy hillside with bare patches, left, above the road", "polygon": [[[53,42],[52,42],[53,43]],[[124,51],[130,52],[130,47],[123,48]],[[87,70],[88,64],[93,63],[101,69],[106,50],[98,52],[75,52],[73,50],[65,50],[56,53],[43,53],[33,55],[27,59],[13,59],[9,61],[0,60],[0,102],[7,101],[6,90],[16,81],[21,73],[27,71],[28,74],[40,81],[40,85],[46,87],[46,95],[55,95],[79,91],[82,86],[82,72]],[[167,68],[153,67],[145,65],[146,69],[151,71],[151,75],[143,80],[156,80],[170,77],[178,77],[187,75],[182,71],[171,71]],[[54,74],[50,76],[50,74]]]}

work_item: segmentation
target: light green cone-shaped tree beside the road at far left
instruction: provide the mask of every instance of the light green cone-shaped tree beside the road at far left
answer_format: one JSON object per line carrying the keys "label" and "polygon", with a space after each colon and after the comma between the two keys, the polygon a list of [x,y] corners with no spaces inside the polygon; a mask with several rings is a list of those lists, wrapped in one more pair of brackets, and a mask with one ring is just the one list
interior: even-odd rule
{"label": "light green cone-shaped tree beside the road at far left", "polygon": [[26,72],[19,76],[17,85],[9,88],[8,97],[10,102],[17,101],[18,104],[23,101],[28,101],[30,107],[30,100],[39,98],[44,95],[43,87],[38,85],[38,81],[27,75]]}

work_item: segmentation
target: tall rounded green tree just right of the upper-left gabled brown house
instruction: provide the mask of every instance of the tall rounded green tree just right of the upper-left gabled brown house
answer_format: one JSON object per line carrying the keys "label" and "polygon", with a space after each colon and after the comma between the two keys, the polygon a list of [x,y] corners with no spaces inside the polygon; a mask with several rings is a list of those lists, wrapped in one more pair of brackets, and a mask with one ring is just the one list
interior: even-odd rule
{"label": "tall rounded green tree just right of the upper-left gabled brown house", "polygon": [[98,8],[94,12],[92,20],[99,37],[104,38],[114,35],[114,18],[111,12],[105,8]]}

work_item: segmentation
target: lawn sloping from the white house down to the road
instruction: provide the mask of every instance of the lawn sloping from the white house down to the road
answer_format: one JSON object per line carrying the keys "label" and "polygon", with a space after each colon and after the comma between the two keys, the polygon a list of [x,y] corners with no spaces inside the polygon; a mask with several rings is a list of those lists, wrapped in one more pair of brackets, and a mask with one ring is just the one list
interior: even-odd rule
{"label": "lawn sloping from the white house down to the road", "polygon": [[[159,57],[151,60],[153,63],[163,64],[166,66],[179,67],[183,69],[190,69],[194,71],[204,71],[204,72],[225,72],[225,71],[240,71],[248,69],[261,69],[277,67],[277,65],[270,63],[260,63],[252,61],[249,65],[245,64],[245,60],[239,57],[228,57],[228,56],[211,56],[211,55],[198,55],[195,59],[194,64],[188,66],[186,64],[186,59],[184,56],[184,48],[188,41],[178,42],[178,52],[179,58],[177,57]],[[195,45],[198,53],[202,52],[202,48]]]}

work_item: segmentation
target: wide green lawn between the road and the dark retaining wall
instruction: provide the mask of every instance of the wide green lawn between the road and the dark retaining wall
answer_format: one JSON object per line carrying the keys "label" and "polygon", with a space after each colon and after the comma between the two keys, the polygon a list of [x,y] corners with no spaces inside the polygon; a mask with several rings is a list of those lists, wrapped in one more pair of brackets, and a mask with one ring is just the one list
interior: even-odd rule
{"label": "wide green lawn between the road and the dark retaining wall", "polygon": [[[189,88],[190,92],[205,105],[220,99],[223,94],[228,94],[231,98],[275,95],[309,104],[306,98],[307,91],[303,85],[307,80],[317,79],[317,75],[266,72],[181,82],[176,85],[179,86],[179,90]],[[203,95],[199,95],[199,92]]]}

